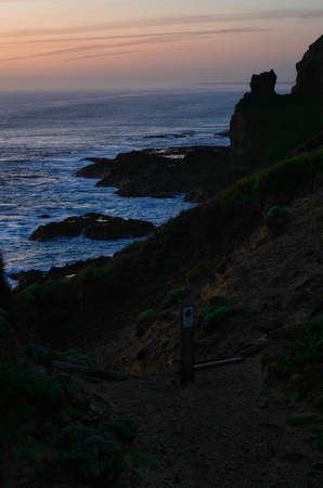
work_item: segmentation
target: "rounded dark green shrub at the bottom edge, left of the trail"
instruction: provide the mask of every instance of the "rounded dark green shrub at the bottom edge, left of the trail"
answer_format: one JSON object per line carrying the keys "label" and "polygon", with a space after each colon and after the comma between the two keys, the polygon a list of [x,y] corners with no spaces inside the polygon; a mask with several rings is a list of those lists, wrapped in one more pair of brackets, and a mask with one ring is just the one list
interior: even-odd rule
{"label": "rounded dark green shrub at the bottom edge, left of the trail", "polygon": [[127,467],[121,449],[94,428],[65,427],[54,447],[57,463],[66,462],[88,479],[114,481]]}

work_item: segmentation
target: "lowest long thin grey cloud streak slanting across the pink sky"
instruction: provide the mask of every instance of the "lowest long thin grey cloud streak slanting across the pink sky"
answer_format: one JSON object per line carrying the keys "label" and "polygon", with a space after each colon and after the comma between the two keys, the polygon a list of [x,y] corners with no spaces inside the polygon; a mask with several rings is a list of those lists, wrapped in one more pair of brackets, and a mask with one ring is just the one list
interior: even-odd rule
{"label": "lowest long thin grey cloud streak slanting across the pink sky", "polygon": [[[151,44],[151,43],[164,43],[164,42],[176,42],[176,41],[183,41],[192,38],[202,38],[202,37],[209,37],[215,35],[221,35],[221,34],[243,34],[243,33],[260,33],[268,29],[261,29],[256,27],[243,27],[243,28],[227,28],[227,29],[214,29],[214,30],[191,30],[185,33],[162,33],[162,34],[155,34],[155,35],[128,35],[128,36],[106,36],[101,38],[92,38],[92,40],[114,40],[118,42],[113,43],[101,43],[101,44],[93,44],[93,46],[78,46],[75,48],[65,48],[65,49],[55,49],[51,51],[46,51],[37,54],[29,54],[29,55],[21,55],[21,56],[11,56],[11,57],[2,57],[0,59],[0,63],[10,62],[10,61],[21,61],[21,60],[29,60],[35,57],[50,57],[50,56],[69,56],[69,54],[76,54],[76,53],[88,53],[96,51],[95,54],[88,54],[86,56],[78,56],[74,57],[72,60],[76,59],[85,59],[85,57],[98,57],[98,56],[106,56],[111,53],[98,53],[98,51],[103,49],[116,49],[116,48],[128,48],[128,47],[135,47],[140,44]],[[125,39],[120,42],[121,39]],[[126,40],[127,39],[127,40]],[[78,39],[81,41],[89,40],[87,39]],[[65,39],[66,41],[66,39]],[[124,54],[124,51],[114,52],[113,55],[117,54]],[[70,57],[68,57],[70,61]]]}

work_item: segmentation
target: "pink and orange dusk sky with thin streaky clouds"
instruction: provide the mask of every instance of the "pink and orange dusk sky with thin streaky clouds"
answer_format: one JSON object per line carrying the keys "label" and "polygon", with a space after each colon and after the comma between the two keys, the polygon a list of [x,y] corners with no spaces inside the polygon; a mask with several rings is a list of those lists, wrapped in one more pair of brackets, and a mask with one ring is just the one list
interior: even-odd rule
{"label": "pink and orange dusk sky with thin streaky clouds", "polygon": [[248,82],[323,34],[322,0],[0,0],[0,90]]}

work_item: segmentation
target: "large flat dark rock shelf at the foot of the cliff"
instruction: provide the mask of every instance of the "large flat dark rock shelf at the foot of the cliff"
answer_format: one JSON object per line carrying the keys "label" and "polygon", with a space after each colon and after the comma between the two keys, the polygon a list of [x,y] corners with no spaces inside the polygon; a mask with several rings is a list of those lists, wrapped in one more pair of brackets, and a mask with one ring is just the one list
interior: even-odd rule
{"label": "large flat dark rock shelf at the foot of the cliff", "polygon": [[203,184],[206,191],[198,197],[203,201],[209,196],[208,188],[214,194],[232,181],[229,158],[230,149],[223,146],[146,149],[120,153],[115,159],[92,158],[94,164],[76,176],[101,178],[96,187],[117,188],[119,195],[134,197],[169,198]]}

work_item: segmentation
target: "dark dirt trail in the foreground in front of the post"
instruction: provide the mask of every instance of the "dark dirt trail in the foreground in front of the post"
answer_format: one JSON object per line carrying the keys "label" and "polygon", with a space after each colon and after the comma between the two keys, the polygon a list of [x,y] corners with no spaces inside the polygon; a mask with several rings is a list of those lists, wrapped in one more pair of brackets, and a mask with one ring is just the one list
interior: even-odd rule
{"label": "dark dirt trail in the foreground in front of the post", "polygon": [[322,487],[312,453],[287,423],[303,407],[263,383],[260,362],[196,372],[183,386],[175,370],[111,384],[116,413],[140,424],[117,486]]}

